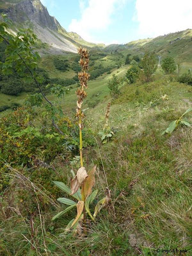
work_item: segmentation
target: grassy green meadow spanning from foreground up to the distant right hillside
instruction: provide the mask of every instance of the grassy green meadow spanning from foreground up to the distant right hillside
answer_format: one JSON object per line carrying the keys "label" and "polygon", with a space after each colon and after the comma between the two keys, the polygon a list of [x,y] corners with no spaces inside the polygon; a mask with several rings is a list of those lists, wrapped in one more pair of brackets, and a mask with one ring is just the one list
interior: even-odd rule
{"label": "grassy green meadow spanning from foreground up to the distant right hillside", "polygon": [[[70,92],[60,99],[63,115],[56,113],[56,121],[62,135],[53,129],[46,108],[24,106],[27,94],[33,92],[17,97],[0,94],[1,106],[18,102],[23,107],[1,112],[0,118],[0,255],[164,256],[177,255],[172,252],[176,248],[186,250],[178,255],[192,255],[192,129],[179,124],[172,134],[162,135],[170,122],[192,108],[192,86],[179,83],[177,72],[164,74],[160,67],[149,83],[129,84],[124,79],[115,99],[108,88],[113,74],[125,78],[130,67],[124,65],[127,52],[140,55],[152,47],[165,56],[172,51],[181,63],[180,74],[188,70],[192,65],[188,32],[132,42],[127,44],[130,49],[116,51],[113,45],[103,52],[90,51],[90,72],[111,68],[88,81],[83,103],[84,166],[90,170],[97,164],[94,189],[99,191],[90,210],[103,196],[110,195],[110,200],[95,222],[88,218],[83,234],[65,230],[76,209],[51,220],[65,209],[56,198],[70,199],[52,180],[70,186],[72,171],[79,168],[77,83],[67,86]],[[181,39],[174,46],[169,42],[176,37]],[[57,56],[68,60],[65,72],[54,67],[54,58],[44,56],[40,62],[49,77],[72,79],[77,75],[72,69],[77,54]],[[47,97],[58,100],[50,93]],[[106,123],[108,102],[113,136],[103,144],[99,131]],[[191,113],[185,118],[192,124]]]}

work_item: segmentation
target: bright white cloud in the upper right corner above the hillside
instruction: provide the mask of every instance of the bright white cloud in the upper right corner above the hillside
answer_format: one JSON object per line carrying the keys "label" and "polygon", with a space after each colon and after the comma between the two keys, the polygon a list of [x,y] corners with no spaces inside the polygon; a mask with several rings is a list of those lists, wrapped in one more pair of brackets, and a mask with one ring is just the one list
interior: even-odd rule
{"label": "bright white cloud in the upper right corner above the hillside", "polygon": [[191,0],[136,0],[139,35],[154,37],[192,28]]}

